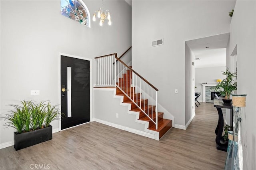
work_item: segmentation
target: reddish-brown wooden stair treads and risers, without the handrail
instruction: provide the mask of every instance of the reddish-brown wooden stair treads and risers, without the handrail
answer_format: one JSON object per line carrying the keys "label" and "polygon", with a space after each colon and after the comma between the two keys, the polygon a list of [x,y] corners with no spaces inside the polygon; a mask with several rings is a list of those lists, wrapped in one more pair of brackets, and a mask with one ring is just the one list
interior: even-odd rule
{"label": "reddish-brown wooden stair treads and risers, without the handrail", "polygon": [[[121,83],[124,82],[124,83]],[[148,99],[142,99],[141,93],[136,93],[136,87],[131,87],[132,84],[132,74],[130,73],[130,70],[127,70],[127,73],[122,74],[122,77],[118,79],[118,83],[116,85],[116,95],[118,96],[124,96],[123,103],[130,103],[131,104],[131,110],[134,112],[139,113],[139,119],[140,121],[146,121],[148,122],[148,130],[153,130],[155,132],[159,133],[159,139],[170,130],[172,127],[172,120],[164,119],[164,113],[158,112],[158,128],[156,130],[156,124],[150,120],[153,119],[156,121],[156,106],[154,105],[148,105]],[[124,92],[123,92],[124,91]],[[126,94],[128,94],[128,96]],[[148,113],[148,117],[141,109],[136,106],[136,104],[130,99],[133,99],[133,101],[138,105],[141,106],[142,110],[144,110],[146,113]]]}

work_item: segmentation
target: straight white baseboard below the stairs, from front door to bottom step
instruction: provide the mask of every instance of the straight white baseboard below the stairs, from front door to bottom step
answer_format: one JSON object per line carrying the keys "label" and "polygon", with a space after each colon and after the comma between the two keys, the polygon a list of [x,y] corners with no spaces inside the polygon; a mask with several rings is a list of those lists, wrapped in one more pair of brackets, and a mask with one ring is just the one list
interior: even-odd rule
{"label": "straight white baseboard below the stairs, from front door to bottom step", "polygon": [[122,125],[117,125],[117,124],[110,123],[110,122],[103,121],[103,120],[96,119],[96,118],[94,118],[94,121],[98,122],[98,123],[102,123],[104,125],[108,125],[110,127],[119,128],[121,130],[125,130],[125,131],[131,132],[131,133],[135,133],[135,134],[139,134],[141,136],[145,136],[145,137],[148,137],[148,138],[155,139],[155,135],[151,134],[151,133],[148,133],[148,132],[144,132],[144,131],[141,131],[141,130],[136,130],[136,129],[129,128],[129,127],[124,127]]}

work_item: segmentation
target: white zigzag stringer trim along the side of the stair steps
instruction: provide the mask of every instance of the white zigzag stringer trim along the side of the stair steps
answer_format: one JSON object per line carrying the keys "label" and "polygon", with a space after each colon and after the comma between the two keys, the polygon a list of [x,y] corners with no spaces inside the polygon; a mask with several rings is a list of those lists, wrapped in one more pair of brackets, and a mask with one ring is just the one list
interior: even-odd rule
{"label": "white zigzag stringer trim along the side of the stair steps", "polygon": [[154,131],[154,130],[149,130],[149,129],[148,129],[149,122],[139,120],[140,113],[139,113],[139,112],[131,111],[131,106],[132,106],[131,103],[123,103],[123,101],[124,101],[124,96],[116,95],[116,88],[115,88],[115,90],[114,90],[113,97],[116,98],[116,99],[120,99],[120,105],[127,107],[127,113],[128,113],[128,114],[135,115],[135,122],[136,122],[136,123],[144,124],[144,131],[145,131],[145,132],[147,132],[147,133],[149,133],[149,134],[153,134],[153,135],[154,135],[154,139],[155,139],[155,140],[159,140],[159,132],[156,132],[156,131]]}

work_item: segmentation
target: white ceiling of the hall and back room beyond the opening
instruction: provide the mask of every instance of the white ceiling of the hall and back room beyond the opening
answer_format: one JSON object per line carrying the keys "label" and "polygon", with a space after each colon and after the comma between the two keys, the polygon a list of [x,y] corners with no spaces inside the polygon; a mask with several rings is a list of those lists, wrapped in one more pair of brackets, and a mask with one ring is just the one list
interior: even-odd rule
{"label": "white ceiling of the hall and back room beyond the opening", "polygon": [[[226,46],[230,33],[186,41],[194,53],[195,68],[226,66]],[[206,48],[208,47],[208,48]]]}

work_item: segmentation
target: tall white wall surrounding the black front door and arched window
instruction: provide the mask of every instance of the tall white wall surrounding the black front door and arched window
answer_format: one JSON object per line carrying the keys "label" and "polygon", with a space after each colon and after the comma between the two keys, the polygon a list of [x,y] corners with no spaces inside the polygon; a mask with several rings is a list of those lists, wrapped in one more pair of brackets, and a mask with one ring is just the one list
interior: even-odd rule
{"label": "tall white wall surrounding the black front door and arched window", "polygon": [[[102,1],[84,2],[91,16],[102,6]],[[104,2],[104,8],[112,14],[112,25],[100,27],[97,21],[88,28],[62,16],[59,0],[1,1],[0,113],[21,100],[58,104],[58,52],[91,58],[96,83],[94,57],[121,55],[131,46],[131,6],[113,0]],[[31,96],[32,89],[40,95]],[[2,119],[0,123],[3,146],[13,141],[14,129],[2,127]],[[58,122],[53,128],[58,129]]]}

